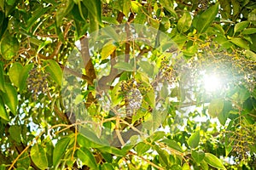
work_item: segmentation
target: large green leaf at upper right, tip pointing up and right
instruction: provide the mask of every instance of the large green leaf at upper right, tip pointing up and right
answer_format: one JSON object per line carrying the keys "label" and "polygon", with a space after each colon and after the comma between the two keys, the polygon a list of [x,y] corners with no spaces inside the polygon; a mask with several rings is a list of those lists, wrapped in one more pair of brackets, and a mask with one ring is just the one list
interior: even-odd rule
{"label": "large green leaf at upper right, tip pointing up and right", "polygon": [[212,21],[216,18],[218,14],[218,3],[212,5],[212,7],[207,8],[205,12],[203,12],[196,23],[196,28],[198,33],[202,33],[207,31],[207,28],[212,24]]}

